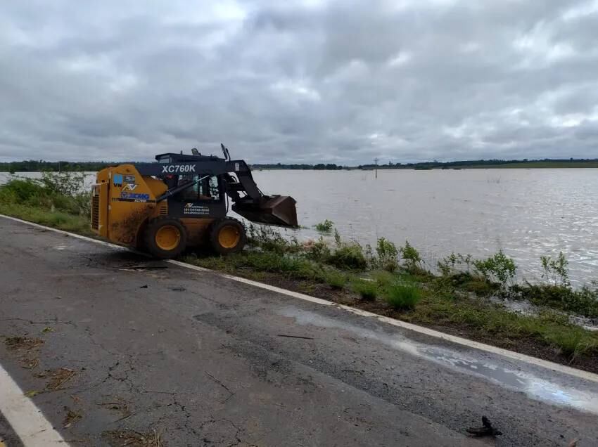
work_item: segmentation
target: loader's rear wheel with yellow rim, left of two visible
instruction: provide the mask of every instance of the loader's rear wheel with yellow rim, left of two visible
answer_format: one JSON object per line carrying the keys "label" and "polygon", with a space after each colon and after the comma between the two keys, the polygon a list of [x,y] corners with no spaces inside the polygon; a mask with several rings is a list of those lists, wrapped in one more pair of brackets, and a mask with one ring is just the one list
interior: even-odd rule
{"label": "loader's rear wheel with yellow rim, left of two visible", "polygon": [[[161,234],[162,238],[160,238]],[[172,237],[172,243],[167,243],[169,236]],[[171,259],[184,252],[187,245],[187,232],[178,219],[158,217],[148,223],[144,239],[146,249],[153,257]]]}

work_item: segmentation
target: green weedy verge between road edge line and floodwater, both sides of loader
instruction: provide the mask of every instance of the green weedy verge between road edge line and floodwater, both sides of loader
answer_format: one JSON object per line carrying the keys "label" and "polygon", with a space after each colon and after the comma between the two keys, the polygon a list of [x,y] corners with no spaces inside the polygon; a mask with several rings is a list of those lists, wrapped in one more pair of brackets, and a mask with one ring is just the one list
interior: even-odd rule
{"label": "green weedy verge between road edge line and floodwater, both sides of loader", "polygon": [[[82,174],[15,177],[0,186],[0,213],[89,234],[83,185]],[[319,238],[300,241],[250,225],[243,252],[190,253],[184,261],[598,371],[598,332],[570,319],[598,318],[598,290],[571,286],[564,254],[540,259],[543,282],[516,283],[516,264],[502,251],[486,259],[453,253],[431,268],[408,241],[362,246],[341,238],[331,221],[316,229]],[[501,299],[526,299],[537,312],[508,311]]]}

